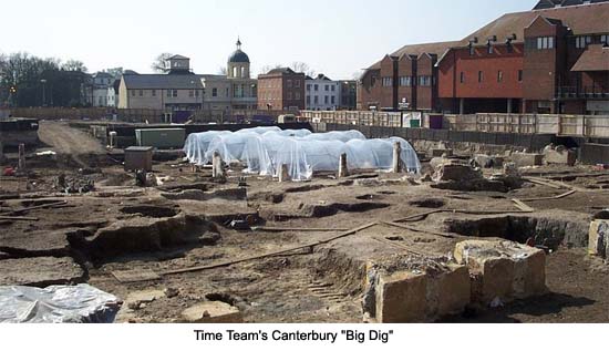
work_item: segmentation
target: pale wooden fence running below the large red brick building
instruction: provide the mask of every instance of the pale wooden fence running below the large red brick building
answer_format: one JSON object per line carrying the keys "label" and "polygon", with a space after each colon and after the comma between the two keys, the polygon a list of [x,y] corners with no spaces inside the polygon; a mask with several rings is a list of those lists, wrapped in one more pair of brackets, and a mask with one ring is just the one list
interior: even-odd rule
{"label": "pale wooden fence running below the large red brick building", "polygon": [[[405,123],[405,117],[399,112],[303,111],[302,117],[312,123],[410,126],[409,123]],[[421,114],[419,124],[422,127],[430,127],[430,114]],[[445,114],[442,117],[441,128],[461,132],[609,137],[609,115]]]}

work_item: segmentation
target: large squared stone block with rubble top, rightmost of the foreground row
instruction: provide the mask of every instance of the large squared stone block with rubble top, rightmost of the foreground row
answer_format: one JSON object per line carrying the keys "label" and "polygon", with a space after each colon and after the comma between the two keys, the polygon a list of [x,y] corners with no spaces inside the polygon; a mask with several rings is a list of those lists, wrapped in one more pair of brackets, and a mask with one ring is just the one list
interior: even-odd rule
{"label": "large squared stone block with rubble top, rightmost of the foreground row", "polygon": [[455,260],[469,268],[472,300],[484,304],[546,292],[546,256],[543,250],[514,241],[458,242]]}

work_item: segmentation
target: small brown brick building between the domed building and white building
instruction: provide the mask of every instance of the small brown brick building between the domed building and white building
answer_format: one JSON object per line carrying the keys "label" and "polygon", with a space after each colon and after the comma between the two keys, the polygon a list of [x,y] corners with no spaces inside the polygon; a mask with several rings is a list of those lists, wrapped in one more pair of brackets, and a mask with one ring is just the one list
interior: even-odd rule
{"label": "small brown brick building between the domed building and white building", "polygon": [[258,75],[258,110],[304,110],[304,79],[291,69]]}

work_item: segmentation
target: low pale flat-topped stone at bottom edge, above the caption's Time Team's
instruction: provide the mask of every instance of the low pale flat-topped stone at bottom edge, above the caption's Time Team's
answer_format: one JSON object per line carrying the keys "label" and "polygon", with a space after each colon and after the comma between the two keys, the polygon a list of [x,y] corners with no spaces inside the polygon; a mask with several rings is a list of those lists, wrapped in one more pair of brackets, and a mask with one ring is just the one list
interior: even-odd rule
{"label": "low pale flat-topped stone at bottom edge, above the caption's Time Team's", "polygon": [[187,308],[182,312],[185,323],[242,323],[238,308],[221,301],[206,301]]}

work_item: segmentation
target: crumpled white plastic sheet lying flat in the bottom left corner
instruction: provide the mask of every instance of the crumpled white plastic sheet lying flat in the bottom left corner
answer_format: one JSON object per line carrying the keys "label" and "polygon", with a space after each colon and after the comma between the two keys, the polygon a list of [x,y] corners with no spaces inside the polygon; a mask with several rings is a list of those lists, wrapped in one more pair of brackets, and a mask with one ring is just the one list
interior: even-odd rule
{"label": "crumpled white plastic sheet lying flat in the bottom left corner", "polygon": [[82,283],[0,287],[0,323],[112,323],[118,299]]}

